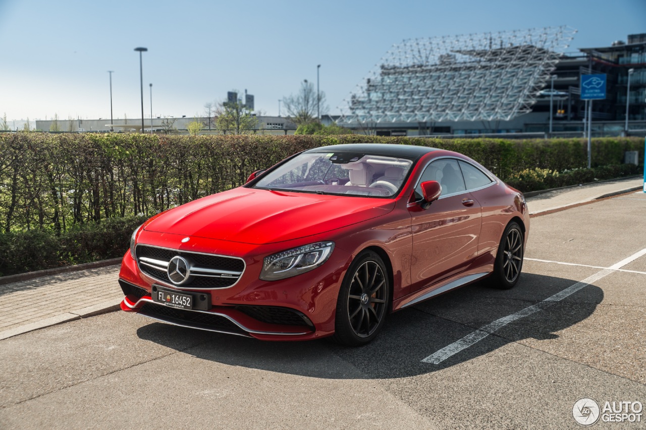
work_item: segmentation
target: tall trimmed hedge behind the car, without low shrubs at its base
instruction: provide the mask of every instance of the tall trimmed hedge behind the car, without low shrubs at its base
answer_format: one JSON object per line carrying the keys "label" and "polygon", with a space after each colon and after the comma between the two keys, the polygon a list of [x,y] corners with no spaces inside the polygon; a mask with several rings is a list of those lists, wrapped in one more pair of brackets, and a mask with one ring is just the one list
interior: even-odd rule
{"label": "tall trimmed hedge behind the car, without low shrubs at its base", "polygon": [[[86,223],[151,216],[238,187],[254,170],[301,150],[363,142],[455,150],[503,180],[526,169],[561,172],[587,165],[583,139],[3,133],[0,231],[47,229],[61,235]],[[643,139],[594,139],[592,165],[618,165],[626,150],[640,151],[643,160]]]}

